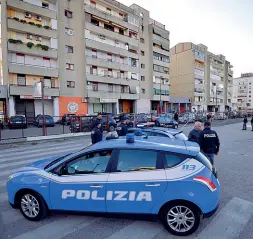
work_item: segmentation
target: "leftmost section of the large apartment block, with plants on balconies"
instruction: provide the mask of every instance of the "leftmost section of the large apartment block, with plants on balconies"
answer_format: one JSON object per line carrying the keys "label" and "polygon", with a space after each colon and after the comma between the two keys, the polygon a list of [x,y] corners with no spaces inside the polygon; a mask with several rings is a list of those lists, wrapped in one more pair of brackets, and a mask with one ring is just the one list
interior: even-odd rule
{"label": "leftmost section of the large apartment block, with plants on balconies", "polygon": [[56,1],[1,1],[2,83],[8,86],[8,115],[32,118],[42,112],[33,85],[43,80],[45,113],[58,115]]}

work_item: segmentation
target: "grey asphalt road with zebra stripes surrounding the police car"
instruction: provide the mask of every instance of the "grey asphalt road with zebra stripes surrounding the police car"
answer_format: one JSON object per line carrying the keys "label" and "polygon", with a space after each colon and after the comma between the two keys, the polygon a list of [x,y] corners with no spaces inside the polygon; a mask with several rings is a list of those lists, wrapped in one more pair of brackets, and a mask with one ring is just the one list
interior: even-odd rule
{"label": "grey asphalt road with zebra stripes surrounding the police car", "polygon": [[[217,213],[202,221],[188,238],[253,238],[253,132],[241,124],[214,127],[220,136],[221,151],[215,159],[221,184]],[[191,127],[184,128],[188,134]],[[87,215],[53,214],[41,222],[29,222],[7,202],[8,175],[35,159],[76,151],[89,143],[89,137],[39,144],[5,145],[0,154],[0,238],[1,239],[174,239],[161,223]]]}

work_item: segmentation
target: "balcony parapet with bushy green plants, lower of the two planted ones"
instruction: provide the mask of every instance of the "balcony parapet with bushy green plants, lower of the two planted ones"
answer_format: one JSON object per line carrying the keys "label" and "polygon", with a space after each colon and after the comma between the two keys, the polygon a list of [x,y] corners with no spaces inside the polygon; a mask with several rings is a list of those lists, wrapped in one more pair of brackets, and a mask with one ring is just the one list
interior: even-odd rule
{"label": "balcony parapet with bushy green plants, lower of the two planted ones", "polygon": [[48,57],[52,59],[57,59],[57,50],[49,49],[48,51],[43,51],[37,47],[28,48],[25,44],[14,44],[8,42],[8,50],[9,52],[18,52],[32,56],[41,56]]}

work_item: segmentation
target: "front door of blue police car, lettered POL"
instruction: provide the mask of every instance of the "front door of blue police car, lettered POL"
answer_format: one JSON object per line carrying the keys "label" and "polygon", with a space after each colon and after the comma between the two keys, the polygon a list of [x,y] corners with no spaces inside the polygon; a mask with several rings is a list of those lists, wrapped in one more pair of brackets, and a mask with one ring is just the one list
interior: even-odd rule
{"label": "front door of blue police car, lettered POL", "polygon": [[53,175],[50,199],[53,210],[105,212],[105,188],[112,150],[93,151],[63,165]]}

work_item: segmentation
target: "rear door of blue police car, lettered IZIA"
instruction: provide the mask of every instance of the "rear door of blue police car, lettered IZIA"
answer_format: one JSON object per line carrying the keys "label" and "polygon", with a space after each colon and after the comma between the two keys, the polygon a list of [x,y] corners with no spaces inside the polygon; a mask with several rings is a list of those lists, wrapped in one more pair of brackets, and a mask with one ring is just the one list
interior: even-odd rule
{"label": "rear door of blue police car, lettered IZIA", "polygon": [[167,185],[159,158],[154,150],[117,151],[106,186],[107,212],[151,212]]}

